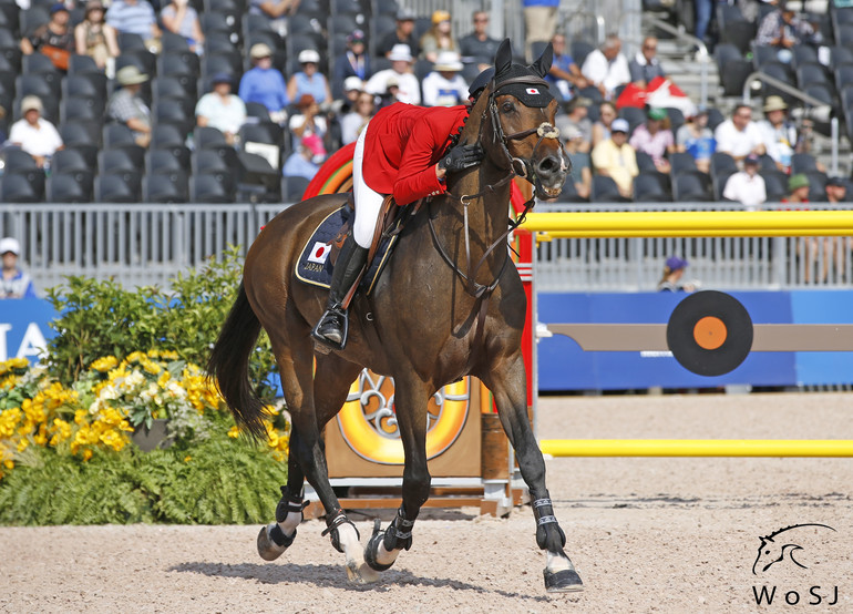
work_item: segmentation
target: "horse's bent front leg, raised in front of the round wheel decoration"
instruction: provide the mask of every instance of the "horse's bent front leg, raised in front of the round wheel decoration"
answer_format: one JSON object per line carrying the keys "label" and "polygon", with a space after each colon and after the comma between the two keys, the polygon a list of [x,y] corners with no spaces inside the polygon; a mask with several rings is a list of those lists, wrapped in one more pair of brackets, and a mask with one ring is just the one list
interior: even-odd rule
{"label": "horse's bent front leg, raised in front of the round wheel decoration", "polygon": [[[413,379],[413,376],[412,376]],[[394,378],[394,406],[400,437],[405,452],[403,469],[403,503],[386,531],[380,522],[364,549],[364,560],[376,571],[386,571],[397,561],[400,551],[412,546],[412,528],[421,505],[430,495],[430,472],[426,467],[426,406],[430,390],[421,381]]]}

